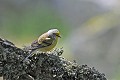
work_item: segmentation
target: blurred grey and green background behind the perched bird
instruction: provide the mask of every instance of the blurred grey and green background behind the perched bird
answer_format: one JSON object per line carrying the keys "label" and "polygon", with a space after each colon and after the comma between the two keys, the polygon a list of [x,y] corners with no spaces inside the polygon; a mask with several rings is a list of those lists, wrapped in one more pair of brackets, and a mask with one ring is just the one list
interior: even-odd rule
{"label": "blurred grey and green background behind the perched bird", "polygon": [[58,28],[63,57],[119,80],[119,9],[119,0],[0,0],[0,37],[22,48]]}

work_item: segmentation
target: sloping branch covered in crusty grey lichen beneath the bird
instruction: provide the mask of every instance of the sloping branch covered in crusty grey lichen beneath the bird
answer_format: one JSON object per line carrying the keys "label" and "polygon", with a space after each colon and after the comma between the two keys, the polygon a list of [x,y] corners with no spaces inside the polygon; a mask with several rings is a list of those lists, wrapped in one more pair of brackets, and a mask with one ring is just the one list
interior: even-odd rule
{"label": "sloping branch covered in crusty grey lichen beneath the bird", "polygon": [[107,80],[95,68],[65,60],[60,56],[63,49],[38,52],[23,62],[28,52],[0,39],[0,77],[4,80]]}

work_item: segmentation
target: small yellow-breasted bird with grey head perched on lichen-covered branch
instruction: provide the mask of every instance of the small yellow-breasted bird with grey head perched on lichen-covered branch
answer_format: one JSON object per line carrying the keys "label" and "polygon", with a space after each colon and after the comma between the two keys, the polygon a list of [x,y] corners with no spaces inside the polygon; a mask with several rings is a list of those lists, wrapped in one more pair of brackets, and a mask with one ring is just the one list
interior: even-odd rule
{"label": "small yellow-breasted bird with grey head perched on lichen-covered branch", "polygon": [[42,52],[52,50],[56,46],[58,38],[61,38],[58,29],[50,29],[48,32],[42,34],[29,46],[29,50],[31,51],[30,54],[24,59],[24,61],[26,61],[36,50],[40,50]]}

